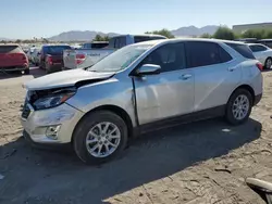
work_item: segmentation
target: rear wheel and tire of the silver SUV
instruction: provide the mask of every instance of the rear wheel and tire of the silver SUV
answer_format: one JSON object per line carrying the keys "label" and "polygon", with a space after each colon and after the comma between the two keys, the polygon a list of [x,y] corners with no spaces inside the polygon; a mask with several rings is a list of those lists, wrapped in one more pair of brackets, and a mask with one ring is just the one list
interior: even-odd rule
{"label": "rear wheel and tire of the silver SUV", "polygon": [[246,123],[251,113],[252,104],[251,93],[246,89],[237,89],[226,104],[226,120],[232,125]]}

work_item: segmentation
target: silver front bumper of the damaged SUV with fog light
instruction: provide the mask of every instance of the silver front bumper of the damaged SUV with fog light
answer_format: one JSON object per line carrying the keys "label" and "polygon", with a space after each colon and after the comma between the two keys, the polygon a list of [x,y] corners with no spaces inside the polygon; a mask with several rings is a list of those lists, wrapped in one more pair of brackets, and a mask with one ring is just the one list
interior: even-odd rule
{"label": "silver front bumper of the damaged SUV with fog light", "polygon": [[[34,143],[70,143],[74,128],[84,115],[66,103],[40,111],[35,111],[30,104],[26,105],[29,112],[26,114],[23,111],[21,123]],[[49,136],[52,127],[58,127],[55,137]]]}

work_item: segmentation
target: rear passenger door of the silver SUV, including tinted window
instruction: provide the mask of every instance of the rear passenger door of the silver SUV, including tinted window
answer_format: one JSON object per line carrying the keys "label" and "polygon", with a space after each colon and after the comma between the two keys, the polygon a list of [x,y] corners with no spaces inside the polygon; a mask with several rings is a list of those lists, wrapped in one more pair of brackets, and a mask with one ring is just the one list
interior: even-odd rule
{"label": "rear passenger door of the silver SUV, including tinted window", "polygon": [[188,68],[195,75],[194,110],[202,111],[226,104],[242,73],[235,60],[218,43],[186,42]]}

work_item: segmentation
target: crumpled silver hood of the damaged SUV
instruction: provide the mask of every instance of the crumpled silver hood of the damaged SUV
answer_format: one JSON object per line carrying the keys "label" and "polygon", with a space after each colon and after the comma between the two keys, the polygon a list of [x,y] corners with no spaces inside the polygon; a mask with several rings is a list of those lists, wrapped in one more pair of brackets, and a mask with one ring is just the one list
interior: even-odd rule
{"label": "crumpled silver hood of the damaged SUV", "polygon": [[59,72],[50,75],[46,75],[29,82],[24,84],[28,90],[45,90],[54,89],[61,87],[72,87],[78,81],[96,80],[96,79],[107,79],[113,76],[114,73],[94,73],[84,71],[82,68]]}

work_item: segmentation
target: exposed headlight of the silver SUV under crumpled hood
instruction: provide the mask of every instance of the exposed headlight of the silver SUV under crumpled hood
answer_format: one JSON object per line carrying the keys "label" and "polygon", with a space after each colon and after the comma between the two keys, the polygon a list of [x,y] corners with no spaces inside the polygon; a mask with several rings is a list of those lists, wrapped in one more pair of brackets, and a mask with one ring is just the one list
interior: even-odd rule
{"label": "exposed headlight of the silver SUV under crumpled hood", "polygon": [[55,107],[65,101],[67,101],[71,97],[75,94],[75,91],[57,91],[48,97],[42,97],[36,100],[33,105],[36,110],[45,110],[50,107]]}

